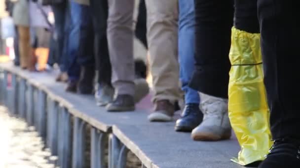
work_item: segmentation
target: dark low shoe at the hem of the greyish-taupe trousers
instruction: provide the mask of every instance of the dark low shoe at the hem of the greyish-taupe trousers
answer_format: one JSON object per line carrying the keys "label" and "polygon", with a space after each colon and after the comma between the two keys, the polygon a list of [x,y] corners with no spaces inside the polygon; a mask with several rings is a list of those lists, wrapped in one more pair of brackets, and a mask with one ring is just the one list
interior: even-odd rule
{"label": "dark low shoe at the hem of the greyish-taupe trousers", "polygon": [[108,112],[130,112],[135,110],[134,98],[128,94],[117,95],[116,98],[106,106]]}

